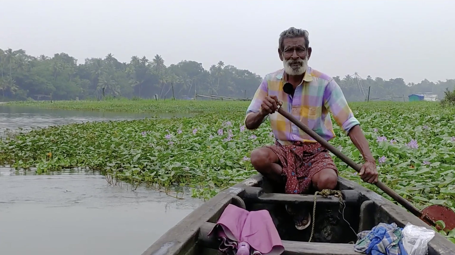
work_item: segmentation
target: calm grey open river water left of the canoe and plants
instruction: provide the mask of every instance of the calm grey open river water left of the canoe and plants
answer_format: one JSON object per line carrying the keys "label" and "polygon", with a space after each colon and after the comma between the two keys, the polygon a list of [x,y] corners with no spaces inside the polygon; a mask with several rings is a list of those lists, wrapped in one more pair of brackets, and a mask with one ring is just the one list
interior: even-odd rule
{"label": "calm grey open river water left of the canoe and plants", "polygon": [[[154,115],[0,105],[0,135],[7,128]],[[0,168],[0,187],[0,254],[12,255],[139,255],[203,202],[111,186],[85,171],[35,175]]]}

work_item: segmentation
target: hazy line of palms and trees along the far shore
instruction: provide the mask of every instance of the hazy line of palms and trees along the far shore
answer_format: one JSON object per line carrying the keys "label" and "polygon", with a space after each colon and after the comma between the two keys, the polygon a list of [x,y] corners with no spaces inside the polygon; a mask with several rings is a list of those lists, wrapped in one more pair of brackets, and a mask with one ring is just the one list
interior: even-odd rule
{"label": "hazy line of palms and trees along the far shore", "polygon": [[[273,70],[271,70],[273,71]],[[324,70],[321,70],[324,71]],[[151,60],[132,56],[118,61],[109,53],[104,58],[86,58],[78,64],[66,53],[30,56],[24,50],[0,49],[0,101],[102,99],[106,96],[189,99],[195,94],[252,97],[262,77],[248,70],[225,65],[208,70],[197,61],[183,60],[165,65],[160,55]],[[402,78],[384,80],[358,75],[335,76],[348,101],[403,100],[411,93],[433,92],[444,97],[455,79],[445,82],[406,84]]]}

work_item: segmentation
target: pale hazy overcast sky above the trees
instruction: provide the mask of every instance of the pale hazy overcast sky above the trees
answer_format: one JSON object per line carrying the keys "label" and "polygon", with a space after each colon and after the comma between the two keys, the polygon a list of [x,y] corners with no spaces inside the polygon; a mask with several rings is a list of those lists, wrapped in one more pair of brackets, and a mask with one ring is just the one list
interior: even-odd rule
{"label": "pale hazy overcast sky above the trees", "polygon": [[330,76],[354,74],[405,82],[455,78],[455,1],[1,1],[0,48],[28,54],[66,52],[161,55],[248,69],[281,68],[279,33],[309,32],[309,65]]}

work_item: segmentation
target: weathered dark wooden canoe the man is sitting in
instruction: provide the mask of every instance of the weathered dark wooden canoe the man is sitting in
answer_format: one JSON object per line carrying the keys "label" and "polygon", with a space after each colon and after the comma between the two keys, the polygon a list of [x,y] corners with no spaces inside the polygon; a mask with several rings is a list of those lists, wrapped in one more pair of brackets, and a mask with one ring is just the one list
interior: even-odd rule
{"label": "weathered dark wooden canoe the man is sitting in", "polygon": [[[339,177],[339,190],[344,195],[344,219],[358,233],[371,230],[375,225],[396,223],[430,226],[410,214],[404,208],[393,204],[381,195],[352,181]],[[356,235],[348,223],[340,217],[339,200],[334,196],[318,196],[314,235],[308,242],[311,225],[297,230],[292,217],[287,214],[285,204],[298,204],[313,208],[313,195],[272,193],[273,190],[261,174],[252,176],[241,183],[220,192],[177,225],[168,230],[142,255],[221,255],[217,250],[219,241],[210,239],[207,234],[227,204],[246,209],[267,209],[283,240],[283,255],[360,255],[354,251]],[[455,245],[440,234],[429,243],[428,255],[453,255]]]}

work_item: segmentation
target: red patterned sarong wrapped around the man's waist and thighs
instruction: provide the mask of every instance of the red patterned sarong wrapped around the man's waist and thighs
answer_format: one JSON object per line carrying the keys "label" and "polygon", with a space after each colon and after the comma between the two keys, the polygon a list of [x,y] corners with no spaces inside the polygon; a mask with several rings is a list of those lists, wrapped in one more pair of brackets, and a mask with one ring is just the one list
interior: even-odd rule
{"label": "red patterned sarong wrapped around the man's waist and thighs", "polygon": [[338,169],[329,152],[320,143],[295,142],[292,145],[266,146],[277,154],[286,176],[286,194],[307,194],[311,179],[315,173],[324,168]]}

